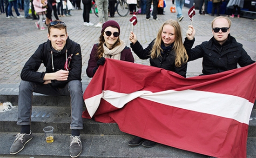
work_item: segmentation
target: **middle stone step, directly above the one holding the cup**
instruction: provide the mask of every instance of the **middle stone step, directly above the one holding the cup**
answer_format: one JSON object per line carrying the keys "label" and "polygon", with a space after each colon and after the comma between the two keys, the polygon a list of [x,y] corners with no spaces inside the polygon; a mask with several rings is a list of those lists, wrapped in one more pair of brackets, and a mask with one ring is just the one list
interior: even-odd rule
{"label": "middle stone step, directly above the one holding the cup", "polygon": [[[85,108],[84,108],[85,109]],[[18,118],[18,106],[9,112],[0,113],[0,132],[20,132],[20,126],[16,125]],[[256,109],[253,109],[249,121],[248,136],[256,137]],[[31,129],[34,133],[43,132],[45,126],[54,127],[55,133],[71,133],[69,106],[33,106],[31,114]],[[81,134],[106,134],[125,135],[115,123],[100,123],[93,119],[83,119],[84,129]]]}

